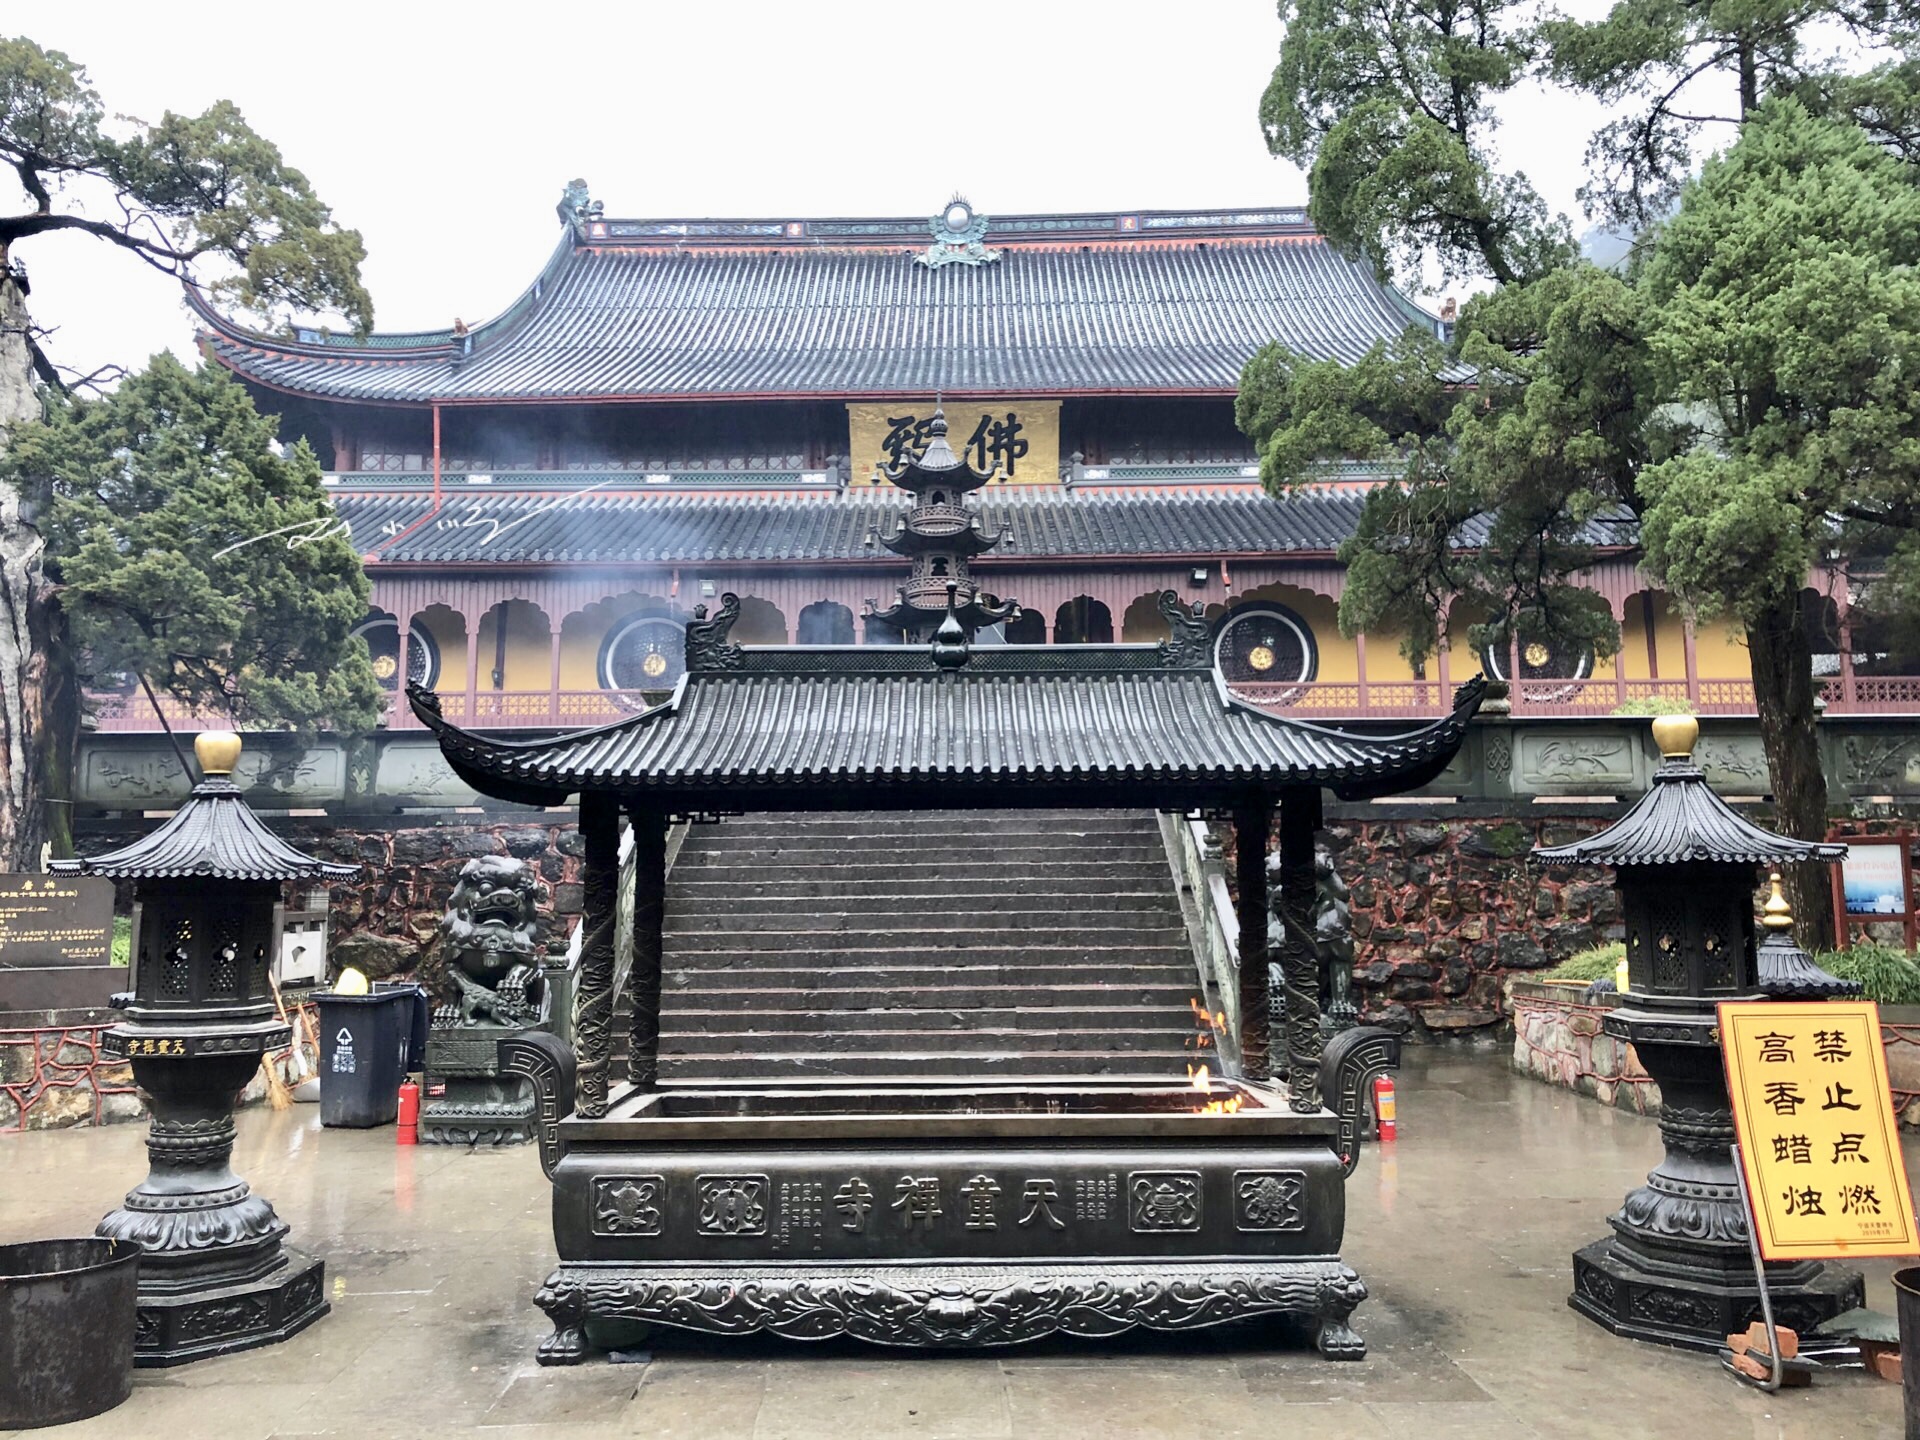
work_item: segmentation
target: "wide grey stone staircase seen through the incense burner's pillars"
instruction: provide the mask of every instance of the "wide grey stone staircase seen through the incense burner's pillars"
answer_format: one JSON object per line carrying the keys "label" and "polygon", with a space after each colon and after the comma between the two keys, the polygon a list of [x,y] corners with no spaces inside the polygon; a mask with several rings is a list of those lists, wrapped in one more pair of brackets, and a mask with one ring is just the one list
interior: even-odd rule
{"label": "wide grey stone staircase seen through the incense burner's pillars", "polygon": [[662,991],[670,1083],[1185,1075],[1200,1058],[1192,950],[1142,812],[695,826],[668,876]]}

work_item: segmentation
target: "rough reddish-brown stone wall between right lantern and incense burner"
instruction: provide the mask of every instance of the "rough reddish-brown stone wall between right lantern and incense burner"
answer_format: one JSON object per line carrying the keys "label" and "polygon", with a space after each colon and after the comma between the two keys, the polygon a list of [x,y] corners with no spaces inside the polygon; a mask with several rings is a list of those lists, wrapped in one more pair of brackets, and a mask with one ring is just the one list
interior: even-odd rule
{"label": "rough reddish-brown stone wall between right lantern and incense burner", "polygon": [[1415,1039],[1490,1033],[1509,975],[1530,975],[1620,935],[1603,870],[1546,872],[1605,818],[1369,820],[1327,828],[1354,902],[1354,991],[1369,1023]]}

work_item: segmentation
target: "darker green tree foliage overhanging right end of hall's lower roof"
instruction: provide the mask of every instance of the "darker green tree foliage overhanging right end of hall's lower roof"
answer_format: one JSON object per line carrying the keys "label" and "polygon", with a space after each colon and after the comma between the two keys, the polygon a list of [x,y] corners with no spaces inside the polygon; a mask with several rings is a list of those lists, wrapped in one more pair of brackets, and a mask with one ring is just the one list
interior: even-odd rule
{"label": "darker green tree foliage overhanging right end of hall's lower roof", "polygon": [[[1248,363],[1235,417],[1269,490],[1325,482],[1346,459],[1402,467],[1340,551],[1348,634],[1400,630],[1419,662],[1459,601],[1488,616],[1475,645],[1517,634],[1615,651],[1619,626],[1582,570],[1638,503],[1663,434],[1642,328],[1632,286],[1569,265],[1471,301],[1452,349],[1409,330],[1354,367],[1273,346]],[[1480,384],[1461,386],[1471,374]]]}

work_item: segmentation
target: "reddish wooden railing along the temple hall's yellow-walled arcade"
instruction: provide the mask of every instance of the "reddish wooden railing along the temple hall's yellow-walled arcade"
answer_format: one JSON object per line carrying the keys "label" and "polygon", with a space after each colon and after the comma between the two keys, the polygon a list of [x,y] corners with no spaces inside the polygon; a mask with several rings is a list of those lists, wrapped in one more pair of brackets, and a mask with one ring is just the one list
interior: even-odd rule
{"label": "reddish wooden railing along the temple hall's yellow-walled arcade", "polygon": [[[1920,716],[1920,676],[1836,676],[1822,680],[1830,714]],[[1430,720],[1452,707],[1436,680],[1313,680],[1296,685],[1238,684],[1233,695],[1275,714],[1302,720]],[[586,730],[624,720],[647,708],[637,689],[480,689],[440,697],[442,714],[470,730]],[[140,691],[94,695],[96,728],[104,732],[159,732],[154,707]],[[1513,685],[1513,714],[1532,718],[1601,718],[1645,714],[1651,708],[1686,708],[1693,714],[1753,714],[1749,680],[1523,680]],[[1649,705],[1651,703],[1651,705]],[[225,726],[221,716],[192,714],[179,701],[161,697],[167,722],[184,733]],[[396,697],[388,730],[420,730],[405,697]]]}

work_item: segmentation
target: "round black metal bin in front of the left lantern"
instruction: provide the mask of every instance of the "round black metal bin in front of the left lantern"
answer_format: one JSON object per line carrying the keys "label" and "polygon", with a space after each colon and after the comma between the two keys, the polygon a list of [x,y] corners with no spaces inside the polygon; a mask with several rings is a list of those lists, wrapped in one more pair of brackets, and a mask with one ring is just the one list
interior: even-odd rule
{"label": "round black metal bin in front of the left lantern", "polygon": [[140,1246],[0,1244],[0,1430],[84,1421],[132,1392]]}

